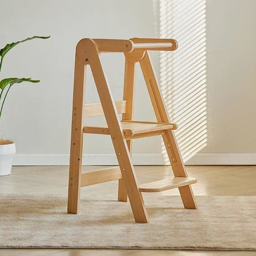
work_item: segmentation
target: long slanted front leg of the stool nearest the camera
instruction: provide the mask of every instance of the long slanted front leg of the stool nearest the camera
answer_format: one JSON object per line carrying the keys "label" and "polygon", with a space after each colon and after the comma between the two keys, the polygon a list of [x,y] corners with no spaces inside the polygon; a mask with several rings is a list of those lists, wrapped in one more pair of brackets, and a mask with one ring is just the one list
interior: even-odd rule
{"label": "long slanted front leg of the stool nearest the camera", "polygon": [[129,149],[126,139],[122,132],[121,122],[118,118],[118,112],[114,105],[108,82],[105,78],[100,58],[98,56],[97,45],[92,39],[86,39],[86,49],[89,53],[88,63],[94,76],[100,102],[102,103],[108,129],[110,130],[114,151],[118,158],[119,167],[122,172],[122,179],[126,185],[126,191],[129,196],[130,206],[134,214],[135,222],[148,223],[148,214],[146,213],[142,194],[138,190],[138,183],[134,166],[130,159]]}

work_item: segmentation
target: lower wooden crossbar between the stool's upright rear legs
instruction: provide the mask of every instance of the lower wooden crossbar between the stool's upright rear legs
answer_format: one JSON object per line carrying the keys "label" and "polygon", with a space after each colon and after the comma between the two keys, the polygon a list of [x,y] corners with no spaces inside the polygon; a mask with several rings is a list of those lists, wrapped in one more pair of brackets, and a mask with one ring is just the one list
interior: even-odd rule
{"label": "lower wooden crossbar between the stool's upright rear legs", "polygon": [[122,174],[119,166],[114,166],[107,169],[96,170],[81,174],[81,186],[89,186],[103,182],[111,182],[111,180],[119,180]]}

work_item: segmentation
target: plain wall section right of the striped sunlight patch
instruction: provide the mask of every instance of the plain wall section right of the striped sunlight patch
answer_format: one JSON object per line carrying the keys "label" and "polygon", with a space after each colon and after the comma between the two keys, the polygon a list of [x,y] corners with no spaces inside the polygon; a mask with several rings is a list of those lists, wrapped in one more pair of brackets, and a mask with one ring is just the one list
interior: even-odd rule
{"label": "plain wall section right of the striped sunlight patch", "polygon": [[207,0],[209,140],[202,152],[255,153],[256,1]]}

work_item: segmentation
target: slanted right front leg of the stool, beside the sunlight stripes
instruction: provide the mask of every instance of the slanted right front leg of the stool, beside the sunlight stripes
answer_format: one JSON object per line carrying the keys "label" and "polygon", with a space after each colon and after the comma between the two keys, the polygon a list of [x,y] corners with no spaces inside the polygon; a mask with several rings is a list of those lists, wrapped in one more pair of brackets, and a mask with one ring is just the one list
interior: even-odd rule
{"label": "slanted right front leg of the stool, beside the sunlight stripes", "polygon": [[[142,73],[145,78],[146,86],[150,94],[151,102],[156,114],[158,122],[169,122],[169,117],[164,106],[164,102],[161,97],[161,92],[156,81],[156,74],[154,73],[153,66],[151,64],[150,56],[146,51],[144,58],[140,61]],[[172,165],[172,170],[175,177],[188,177],[183,164],[182,156],[178,150],[178,145],[175,140],[173,130],[166,130],[162,135],[166,151]],[[197,209],[196,200],[190,185],[178,188],[182,202],[187,209]]]}

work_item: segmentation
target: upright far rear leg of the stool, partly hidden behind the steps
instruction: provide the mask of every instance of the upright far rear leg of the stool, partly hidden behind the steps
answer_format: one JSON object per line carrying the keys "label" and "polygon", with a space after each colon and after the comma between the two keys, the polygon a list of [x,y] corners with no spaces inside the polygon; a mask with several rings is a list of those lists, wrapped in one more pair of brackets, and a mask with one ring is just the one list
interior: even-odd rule
{"label": "upright far rear leg of the stool, partly hidden behind the steps", "polygon": [[[126,113],[122,114],[123,120],[132,120],[134,113],[134,76],[135,63],[129,61],[129,54],[125,54],[126,63],[124,66],[124,97],[126,100]],[[126,140],[127,147],[132,156],[132,140]],[[127,202],[126,186],[121,178],[118,183],[118,201]]]}

